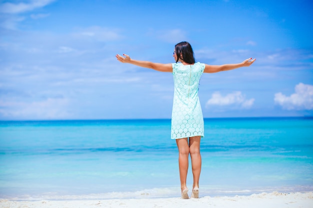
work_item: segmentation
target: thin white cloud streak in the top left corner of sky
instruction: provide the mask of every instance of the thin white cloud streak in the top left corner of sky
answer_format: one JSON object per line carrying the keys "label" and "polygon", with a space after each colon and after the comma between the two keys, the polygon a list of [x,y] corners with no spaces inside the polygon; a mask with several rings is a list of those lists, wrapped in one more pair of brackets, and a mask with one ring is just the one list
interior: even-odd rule
{"label": "thin white cloud streak in the top left corner of sky", "polygon": [[0,5],[1,13],[22,13],[25,11],[31,11],[35,8],[43,7],[54,0],[31,0],[29,3],[10,3],[6,2]]}

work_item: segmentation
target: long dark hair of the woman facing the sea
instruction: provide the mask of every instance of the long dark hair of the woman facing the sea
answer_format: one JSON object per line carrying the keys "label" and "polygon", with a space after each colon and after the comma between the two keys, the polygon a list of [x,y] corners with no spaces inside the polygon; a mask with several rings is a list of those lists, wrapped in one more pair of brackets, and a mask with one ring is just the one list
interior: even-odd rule
{"label": "long dark hair of the woman facing the sea", "polygon": [[[179,42],[175,45],[175,53],[177,55],[176,63],[178,62],[178,58],[189,64],[195,62],[192,47],[186,41]],[[182,57],[180,57],[180,53]]]}

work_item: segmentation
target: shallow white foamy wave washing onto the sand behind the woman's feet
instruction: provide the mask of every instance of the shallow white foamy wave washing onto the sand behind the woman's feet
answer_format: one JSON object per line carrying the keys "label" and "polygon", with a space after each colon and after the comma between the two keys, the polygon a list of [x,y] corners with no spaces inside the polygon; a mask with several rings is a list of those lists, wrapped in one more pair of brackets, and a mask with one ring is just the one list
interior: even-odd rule
{"label": "shallow white foamy wave washing onto the sand behind the woman's feet", "polygon": [[[261,193],[295,193],[295,192],[312,192],[312,186],[298,187],[257,187],[252,189],[235,189],[229,187],[208,187],[200,188],[201,196],[209,197],[234,197],[250,196]],[[179,198],[179,187],[153,188],[133,191],[93,193],[93,194],[64,194],[56,192],[46,192],[42,194],[26,195],[0,195],[0,199],[14,201],[40,201],[40,200],[109,200],[109,199],[155,199],[155,198]]]}

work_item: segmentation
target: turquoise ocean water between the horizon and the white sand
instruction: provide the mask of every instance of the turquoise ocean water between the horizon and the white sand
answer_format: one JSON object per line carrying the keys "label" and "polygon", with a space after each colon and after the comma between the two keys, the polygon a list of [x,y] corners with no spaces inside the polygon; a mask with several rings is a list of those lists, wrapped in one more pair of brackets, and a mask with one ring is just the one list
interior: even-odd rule
{"label": "turquoise ocean water between the horizon and the white sand", "polygon": [[[313,118],[205,119],[204,128],[200,197],[313,191]],[[1,199],[179,196],[170,120],[0,121]]]}

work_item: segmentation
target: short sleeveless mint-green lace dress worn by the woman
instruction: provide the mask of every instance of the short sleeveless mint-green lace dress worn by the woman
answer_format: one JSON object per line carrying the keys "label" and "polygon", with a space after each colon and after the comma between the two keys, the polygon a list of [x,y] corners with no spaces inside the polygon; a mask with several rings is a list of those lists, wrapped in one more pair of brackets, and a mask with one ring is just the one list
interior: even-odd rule
{"label": "short sleeveless mint-green lace dress worn by the woman", "polygon": [[171,139],[204,137],[204,122],[198,97],[198,85],[205,65],[172,63],[174,98],[171,115]]}

